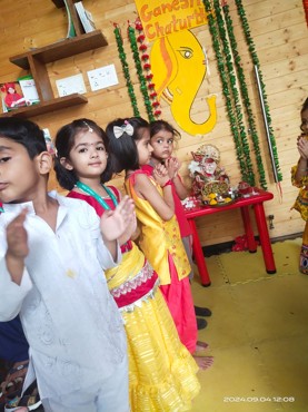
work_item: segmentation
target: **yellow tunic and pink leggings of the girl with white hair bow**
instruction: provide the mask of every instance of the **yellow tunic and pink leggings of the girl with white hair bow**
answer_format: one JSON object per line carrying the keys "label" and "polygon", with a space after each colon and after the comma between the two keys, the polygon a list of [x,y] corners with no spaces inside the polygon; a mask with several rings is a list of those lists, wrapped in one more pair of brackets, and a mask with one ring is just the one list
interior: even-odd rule
{"label": "yellow tunic and pink leggings of the girl with white hair bow", "polygon": [[126,180],[126,190],[135,200],[140,227],[139,245],[160,279],[160,291],[172,315],[181,343],[190,353],[196,351],[198,339],[189,274],[190,263],[183,247],[176,215],[162,220],[148,200],[141,199],[135,190],[137,174],[145,174],[162,197],[162,189],[151,175],[136,170]]}

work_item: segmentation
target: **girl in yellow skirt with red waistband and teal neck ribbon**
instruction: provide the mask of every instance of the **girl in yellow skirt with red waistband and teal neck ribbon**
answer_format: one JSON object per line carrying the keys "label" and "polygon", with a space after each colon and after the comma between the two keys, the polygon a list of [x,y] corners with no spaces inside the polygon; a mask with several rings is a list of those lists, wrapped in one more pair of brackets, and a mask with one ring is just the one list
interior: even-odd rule
{"label": "girl in yellow skirt with red waistband and teal neck ribbon", "polygon": [[[108,138],[89,119],[63,126],[56,137],[54,170],[68,196],[83,199],[99,216],[115,209],[120,193],[103,183],[111,177]],[[136,225],[119,241],[122,262],[106,271],[109,290],[122,314],[128,336],[132,411],[179,411],[199,392],[196,362],[180,343],[172,317],[145,255],[130,241]]]}

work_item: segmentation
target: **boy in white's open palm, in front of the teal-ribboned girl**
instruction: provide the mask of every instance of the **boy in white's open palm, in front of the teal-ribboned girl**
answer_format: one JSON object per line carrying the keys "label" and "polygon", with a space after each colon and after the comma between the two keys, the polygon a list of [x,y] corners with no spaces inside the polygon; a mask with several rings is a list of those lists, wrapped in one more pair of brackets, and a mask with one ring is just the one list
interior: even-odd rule
{"label": "boy in white's open palm, in front of the teal-ribboned girl", "polygon": [[130,225],[136,224],[135,203],[125,196],[115,210],[107,210],[100,219],[100,229],[108,242],[118,239]]}

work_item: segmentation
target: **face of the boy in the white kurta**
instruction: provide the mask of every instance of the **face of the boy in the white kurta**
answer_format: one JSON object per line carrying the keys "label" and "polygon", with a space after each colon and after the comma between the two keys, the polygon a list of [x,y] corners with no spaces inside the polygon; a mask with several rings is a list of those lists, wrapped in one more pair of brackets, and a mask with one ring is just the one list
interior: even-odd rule
{"label": "face of the boy in the white kurta", "polygon": [[0,202],[23,203],[37,197],[40,173],[22,145],[0,137]]}

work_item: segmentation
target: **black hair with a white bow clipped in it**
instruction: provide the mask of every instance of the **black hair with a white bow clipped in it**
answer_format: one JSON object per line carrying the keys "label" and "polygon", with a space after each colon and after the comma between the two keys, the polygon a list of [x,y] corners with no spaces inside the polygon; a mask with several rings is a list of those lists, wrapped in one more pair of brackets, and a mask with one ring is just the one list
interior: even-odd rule
{"label": "black hair with a white bow clipped in it", "polygon": [[[117,126],[125,129],[127,124],[133,128],[132,136],[123,131],[121,137],[116,138],[113,127]],[[148,128],[149,122],[141,117],[118,118],[107,125],[106,133],[109,139],[113,173],[139,169],[139,156],[136,141],[142,138],[141,129]]]}

